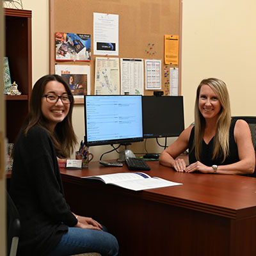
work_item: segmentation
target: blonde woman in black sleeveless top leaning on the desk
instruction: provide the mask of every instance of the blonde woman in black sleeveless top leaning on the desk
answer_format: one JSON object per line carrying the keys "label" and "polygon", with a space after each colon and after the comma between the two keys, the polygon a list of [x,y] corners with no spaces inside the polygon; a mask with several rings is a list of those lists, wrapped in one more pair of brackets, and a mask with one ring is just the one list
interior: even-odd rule
{"label": "blonde woman in black sleeveless top leaning on the desk", "polygon": [[[189,166],[176,159],[189,149]],[[159,163],[177,172],[246,174],[255,170],[255,151],[248,124],[232,120],[226,84],[204,79],[196,90],[195,125],[166,148]]]}

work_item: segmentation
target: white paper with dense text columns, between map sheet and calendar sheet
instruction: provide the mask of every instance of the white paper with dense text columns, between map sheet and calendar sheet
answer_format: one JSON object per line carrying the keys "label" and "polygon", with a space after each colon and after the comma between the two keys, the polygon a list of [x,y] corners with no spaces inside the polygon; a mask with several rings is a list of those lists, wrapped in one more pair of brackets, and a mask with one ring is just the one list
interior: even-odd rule
{"label": "white paper with dense text columns, between map sheet and calendar sheet", "polygon": [[121,59],[121,94],[144,93],[143,59]]}

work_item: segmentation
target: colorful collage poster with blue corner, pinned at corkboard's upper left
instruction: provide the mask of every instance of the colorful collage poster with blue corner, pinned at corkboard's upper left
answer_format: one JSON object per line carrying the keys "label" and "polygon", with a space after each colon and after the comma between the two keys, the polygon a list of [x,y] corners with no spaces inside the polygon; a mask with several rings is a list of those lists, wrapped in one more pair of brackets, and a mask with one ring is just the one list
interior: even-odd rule
{"label": "colorful collage poster with blue corner, pinned at corkboard's upper left", "polygon": [[56,61],[90,61],[91,35],[56,32]]}

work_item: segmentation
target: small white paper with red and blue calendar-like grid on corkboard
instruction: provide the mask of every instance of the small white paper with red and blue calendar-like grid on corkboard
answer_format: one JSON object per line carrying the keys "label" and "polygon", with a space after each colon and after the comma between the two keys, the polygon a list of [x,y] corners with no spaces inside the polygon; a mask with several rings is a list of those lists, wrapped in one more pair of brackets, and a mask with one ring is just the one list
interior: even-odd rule
{"label": "small white paper with red and blue calendar-like grid on corkboard", "polygon": [[146,90],[161,90],[161,60],[145,60]]}

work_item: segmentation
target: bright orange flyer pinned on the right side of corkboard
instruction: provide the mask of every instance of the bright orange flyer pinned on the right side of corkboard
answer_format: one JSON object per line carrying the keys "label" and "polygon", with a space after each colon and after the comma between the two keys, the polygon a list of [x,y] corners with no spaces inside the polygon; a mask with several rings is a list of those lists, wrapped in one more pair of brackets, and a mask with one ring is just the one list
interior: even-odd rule
{"label": "bright orange flyer pinned on the right side of corkboard", "polygon": [[164,64],[179,65],[178,35],[164,35]]}

